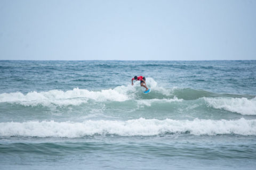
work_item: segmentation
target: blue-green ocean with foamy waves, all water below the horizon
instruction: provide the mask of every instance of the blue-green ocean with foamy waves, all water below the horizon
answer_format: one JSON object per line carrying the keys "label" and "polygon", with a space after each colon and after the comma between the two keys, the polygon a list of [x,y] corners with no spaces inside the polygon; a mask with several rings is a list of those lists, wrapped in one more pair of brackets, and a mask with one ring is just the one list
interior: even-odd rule
{"label": "blue-green ocean with foamy waves, all water below the horizon", "polygon": [[0,169],[255,169],[255,96],[256,61],[0,61]]}

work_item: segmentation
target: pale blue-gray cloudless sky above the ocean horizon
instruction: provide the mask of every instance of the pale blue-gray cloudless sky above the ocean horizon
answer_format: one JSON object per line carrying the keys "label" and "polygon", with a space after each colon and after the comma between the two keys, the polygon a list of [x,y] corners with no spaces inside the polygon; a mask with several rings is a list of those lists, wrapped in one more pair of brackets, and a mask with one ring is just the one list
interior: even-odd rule
{"label": "pale blue-gray cloudless sky above the ocean horizon", "polygon": [[256,1],[0,0],[0,60],[256,60]]}

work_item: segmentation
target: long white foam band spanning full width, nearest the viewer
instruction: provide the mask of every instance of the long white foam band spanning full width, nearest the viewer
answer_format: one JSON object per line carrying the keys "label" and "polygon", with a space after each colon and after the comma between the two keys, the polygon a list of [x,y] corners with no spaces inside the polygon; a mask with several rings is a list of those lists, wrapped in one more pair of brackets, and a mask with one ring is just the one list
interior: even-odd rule
{"label": "long white foam band spanning full width, nearest the viewer", "polygon": [[0,136],[78,138],[94,134],[122,136],[189,132],[194,135],[256,135],[256,120],[156,120],[0,123]]}

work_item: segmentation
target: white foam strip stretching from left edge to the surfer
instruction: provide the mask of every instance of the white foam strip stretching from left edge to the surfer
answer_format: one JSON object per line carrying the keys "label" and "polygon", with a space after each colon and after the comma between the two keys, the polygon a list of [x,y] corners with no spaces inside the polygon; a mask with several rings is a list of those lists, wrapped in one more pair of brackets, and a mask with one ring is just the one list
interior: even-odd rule
{"label": "white foam strip stretching from left edge to the surfer", "polygon": [[[97,101],[125,101],[129,99],[127,91],[129,87],[116,87],[101,91],[89,91],[75,88],[73,90],[50,90],[46,92],[29,92],[24,95],[21,92],[0,94],[0,102],[17,103],[25,106],[41,104],[48,106],[55,105],[80,105],[87,103],[89,99]],[[131,96],[130,96],[131,97]]]}

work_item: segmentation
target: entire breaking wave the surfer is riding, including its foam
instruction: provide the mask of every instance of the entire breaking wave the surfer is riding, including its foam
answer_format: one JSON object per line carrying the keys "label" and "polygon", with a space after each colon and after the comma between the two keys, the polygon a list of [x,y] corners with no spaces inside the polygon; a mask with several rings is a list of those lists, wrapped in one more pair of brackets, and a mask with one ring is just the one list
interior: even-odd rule
{"label": "entire breaking wave the surfer is riding, including its foam", "polygon": [[[117,86],[114,89],[103,89],[98,91],[74,88],[73,90],[50,90],[42,92],[12,92],[0,94],[0,103],[10,103],[22,106],[79,106],[82,104],[102,103],[114,101],[122,103],[124,101],[135,101],[139,106],[156,106],[159,104],[178,105],[184,107],[189,105],[187,100],[196,100],[197,105],[202,104],[204,108],[212,107],[215,109],[224,109],[242,115],[256,115],[256,98],[249,96],[249,99],[243,95],[214,94],[205,90],[195,90],[190,88],[178,89],[158,86],[152,78],[147,78],[147,85],[152,89],[150,94],[143,94],[139,82],[134,86]],[[185,105],[182,105],[186,103]],[[126,105],[122,103],[121,105]],[[165,106],[166,106],[165,105]],[[131,104],[130,107],[136,107]]]}

